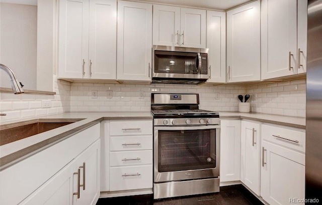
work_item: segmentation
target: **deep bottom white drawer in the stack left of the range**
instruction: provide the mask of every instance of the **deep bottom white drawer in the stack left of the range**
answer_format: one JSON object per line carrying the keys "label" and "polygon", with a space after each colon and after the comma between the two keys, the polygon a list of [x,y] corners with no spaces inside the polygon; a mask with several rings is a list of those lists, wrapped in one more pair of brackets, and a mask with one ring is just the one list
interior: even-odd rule
{"label": "deep bottom white drawer in the stack left of the range", "polygon": [[152,188],[152,165],[110,168],[110,190]]}

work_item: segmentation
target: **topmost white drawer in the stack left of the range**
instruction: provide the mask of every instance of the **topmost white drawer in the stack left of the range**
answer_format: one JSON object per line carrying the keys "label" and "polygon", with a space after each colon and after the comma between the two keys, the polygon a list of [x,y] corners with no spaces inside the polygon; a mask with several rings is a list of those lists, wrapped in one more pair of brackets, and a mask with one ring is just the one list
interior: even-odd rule
{"label": "topmost white drawer in the stack left of the range", "polygon": [[111,121],[110,136],[152,134],[152,120]]}

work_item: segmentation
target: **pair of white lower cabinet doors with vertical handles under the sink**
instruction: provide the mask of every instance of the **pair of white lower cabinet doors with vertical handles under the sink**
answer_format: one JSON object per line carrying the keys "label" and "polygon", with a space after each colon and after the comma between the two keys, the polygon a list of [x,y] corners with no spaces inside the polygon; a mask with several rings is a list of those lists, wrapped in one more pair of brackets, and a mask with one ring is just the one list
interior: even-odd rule
{"label": "pair of white lower cabinet doors with vertical handles under the sink", "polygon": [[97,139],[19,204],[95,205],[100,194],[100,142]]}

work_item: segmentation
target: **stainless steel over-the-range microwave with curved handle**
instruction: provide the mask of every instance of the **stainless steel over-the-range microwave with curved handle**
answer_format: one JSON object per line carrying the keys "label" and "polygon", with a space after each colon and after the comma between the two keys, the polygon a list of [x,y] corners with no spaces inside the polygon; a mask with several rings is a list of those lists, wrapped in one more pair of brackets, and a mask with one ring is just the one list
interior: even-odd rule
{"label": "stainless steel over-the-range microwave with curved handle", "polygon": [[152,83],[199,84],[209,78],[208,49],[153,46]]}

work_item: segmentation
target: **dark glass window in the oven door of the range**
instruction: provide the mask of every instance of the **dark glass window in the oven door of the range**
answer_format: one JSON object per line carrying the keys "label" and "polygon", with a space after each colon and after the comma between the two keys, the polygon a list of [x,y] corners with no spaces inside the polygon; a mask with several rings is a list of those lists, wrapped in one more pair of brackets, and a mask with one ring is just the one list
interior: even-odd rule
{"label": "dark glass window in the oven door of the range", "polygon": [[215,129],[159,130],[158,171],[215,168],[215,138]]}

